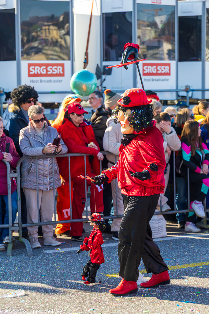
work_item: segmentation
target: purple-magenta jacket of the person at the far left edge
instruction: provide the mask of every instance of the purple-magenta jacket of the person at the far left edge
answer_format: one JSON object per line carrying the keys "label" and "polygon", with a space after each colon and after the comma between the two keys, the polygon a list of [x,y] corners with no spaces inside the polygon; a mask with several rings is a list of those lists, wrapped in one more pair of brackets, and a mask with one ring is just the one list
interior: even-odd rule
{"label": "purple-magenta jacket of the person at the far left edge", "polygon": [[[2,137],[0,138],[0,195],[8,195],[7,166],[2,161],[4,159],[3,152],[5,152],[6,143],[10,143],[9,153],[13,156],[13,160],[9,163],[10,166],[15,169],[17,162],[20,159],[20,156],[18,155],[14,146],[13,140],[3,133]],[[11,190],[12,193],[17,190],[17,186],[14,185],[13,179],[11,180]]]}

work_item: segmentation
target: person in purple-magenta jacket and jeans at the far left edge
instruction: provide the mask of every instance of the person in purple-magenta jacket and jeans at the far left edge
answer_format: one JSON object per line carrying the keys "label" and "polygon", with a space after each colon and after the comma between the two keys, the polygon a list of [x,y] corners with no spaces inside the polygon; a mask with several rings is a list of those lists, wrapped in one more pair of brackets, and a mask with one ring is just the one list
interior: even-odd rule
{"label": "person in purple-magenta jacket and jeans at the far left edge", "polygon": [[[5,153],[6,143],[9,145],[9,153]],[[20,159],[18,155],[14,142],[11,138],[6,136],[3,132],[3,118],[0,117],[0,225],[8,225],[9,223],[9,213],[8,213],[8,190],[7,190],[7,166],[3,160],[10,163],[11,168],[16,168],[17,162]],[[14,180],[11,180],[11,190],[12,190],[12,223],[17,215],[18,205],[17,205],[17,185]],[[2,200],[6,204],[6,214],[4,221],[2,221]],[[0,251],[5,251],[4,243],[9,242],[9,229],[0,228]]]}

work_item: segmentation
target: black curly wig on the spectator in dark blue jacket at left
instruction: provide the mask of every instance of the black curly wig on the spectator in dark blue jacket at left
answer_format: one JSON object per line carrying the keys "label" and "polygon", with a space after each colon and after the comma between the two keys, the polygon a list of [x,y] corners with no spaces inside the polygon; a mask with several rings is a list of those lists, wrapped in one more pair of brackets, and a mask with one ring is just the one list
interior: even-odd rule
{"label": "black curly wig on the spectator in dark blue jacket at left", "polygon": [[19,85],[17,88],[14,88],[11,93],[11,98],[14,106],[20,108],[22,104],[25,104],[26,101],[30,98],[34,98],[35,101],[38,100],[38,93],[34,87],[30,85]]}

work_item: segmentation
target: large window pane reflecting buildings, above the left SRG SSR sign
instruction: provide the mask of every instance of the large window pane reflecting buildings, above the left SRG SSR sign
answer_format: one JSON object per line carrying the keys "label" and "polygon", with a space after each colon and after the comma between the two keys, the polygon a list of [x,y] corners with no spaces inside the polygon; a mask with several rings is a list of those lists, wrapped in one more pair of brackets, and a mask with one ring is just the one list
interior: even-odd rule
{"label": "large window pane reflecting buildings, above the left SRG SSR sign", "polygon": [[69,2],[20,0],[22,60],[70,60]]}

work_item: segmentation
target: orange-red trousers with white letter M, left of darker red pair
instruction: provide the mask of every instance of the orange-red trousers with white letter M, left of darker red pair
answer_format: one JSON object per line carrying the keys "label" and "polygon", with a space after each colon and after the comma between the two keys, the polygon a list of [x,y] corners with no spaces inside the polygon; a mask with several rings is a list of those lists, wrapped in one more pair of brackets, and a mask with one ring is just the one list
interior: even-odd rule
{"label": "orange-red trousers with white letter M, left of darker red pair", "polygon": [[[68,220],[71,219],[70,212],[70,192],[69,185],[61,185],[57,188],[57,215],[58,220]],[[73,196],[73,182],[71,181],[71,195]],[[68,224],[57,224],[55,234],[60,234],[70,230],[71,223]]]}

